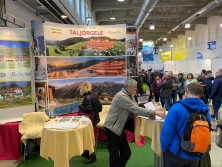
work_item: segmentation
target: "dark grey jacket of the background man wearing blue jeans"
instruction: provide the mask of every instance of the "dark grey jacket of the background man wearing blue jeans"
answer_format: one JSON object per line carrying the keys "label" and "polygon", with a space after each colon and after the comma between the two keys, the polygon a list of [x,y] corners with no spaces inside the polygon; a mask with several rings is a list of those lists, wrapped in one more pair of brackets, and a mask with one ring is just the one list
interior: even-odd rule
{"label": "dark grey jacket of the background man wearing blue jeans", "polygon": [[158,84],[160,88],[160,97],[171,98],[172,88],[173,88],[173,79],[165,80]]}

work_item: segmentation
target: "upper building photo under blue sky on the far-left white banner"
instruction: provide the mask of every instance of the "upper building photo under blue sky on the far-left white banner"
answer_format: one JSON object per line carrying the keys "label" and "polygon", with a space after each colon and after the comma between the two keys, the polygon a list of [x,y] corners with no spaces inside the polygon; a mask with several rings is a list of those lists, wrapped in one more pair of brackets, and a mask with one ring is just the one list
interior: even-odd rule
{"label": "upper building photo under blue sky on the far-left white banner", "polygon": [[0,40],[0,69],[30,68],[28,41]]}

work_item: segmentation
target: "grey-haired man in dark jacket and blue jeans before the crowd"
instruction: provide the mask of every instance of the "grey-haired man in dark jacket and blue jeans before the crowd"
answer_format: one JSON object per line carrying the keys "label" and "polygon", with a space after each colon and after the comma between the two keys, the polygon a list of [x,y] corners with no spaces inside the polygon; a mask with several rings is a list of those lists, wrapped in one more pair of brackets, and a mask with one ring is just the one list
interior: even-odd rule
{"label": "grey-haired man in dark jacket and blue jeans before the crowd", "polygon": [[164,79],[162,82],[158,84],[158,87],[160,89],[160,102],[162,107],[164,107],[168,111],[170,109],[170,99],[172,96],[172,87],[173,87],[173,81],[170,77],[170,72],[164,73]]}

